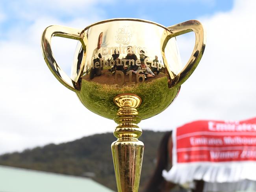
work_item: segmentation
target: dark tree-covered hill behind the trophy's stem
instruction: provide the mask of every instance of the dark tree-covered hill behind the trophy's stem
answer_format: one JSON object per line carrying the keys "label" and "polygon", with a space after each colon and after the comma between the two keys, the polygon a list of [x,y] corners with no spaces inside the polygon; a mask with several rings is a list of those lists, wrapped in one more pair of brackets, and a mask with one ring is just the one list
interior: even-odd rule
{"label": "dark tree-covered hill behind the trophy's stem", "polygon": [[[154,170],[157,148],[164,133],[143,131],[139,138],[145,145],[140,191]],[[113,133],[105,133],[58,145],[48,144],[21,153],[1,155],[0,164],[82,177],[90,175],[98,183],[116,191],[110,147],[114,140]]]}

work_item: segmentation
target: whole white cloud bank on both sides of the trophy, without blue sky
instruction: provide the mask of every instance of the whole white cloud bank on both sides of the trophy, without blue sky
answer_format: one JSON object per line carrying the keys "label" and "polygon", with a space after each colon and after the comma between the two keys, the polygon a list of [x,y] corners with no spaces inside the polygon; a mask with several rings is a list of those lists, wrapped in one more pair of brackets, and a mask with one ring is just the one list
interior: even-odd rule
{"label": "whole white cloud bank on both sides of the trophy, without blue sky", "polygon": [[[54,2],[58,5],[58,0]],[[237,0],[229,12],[200,18],[207,30],[202,61],[182,85],[174,103],[139,126],[169,130],[189,120],[239,120],[255,115],[255,6],[254,0]],[[87,7],[90,8],[95,9]],[[0,42],[0,153],[113,131],[116,126],[112,120],[85,109],[74,92],[54,78],[40,48],[41,33],[46,26],[84,28],[101,20],[101,15],[95,13],[86,19],[75,17],[68,22],[40,14],[33,19],[28,28],[17,26],[9,31],[8,41]],[[178,38],[181,53],[191,53],[187,44],[193,43],[192,37]],[[58,63],[69,70],[76,42],[56,38],[52,44]],[[84,121],[86,124],[81,124]]]}

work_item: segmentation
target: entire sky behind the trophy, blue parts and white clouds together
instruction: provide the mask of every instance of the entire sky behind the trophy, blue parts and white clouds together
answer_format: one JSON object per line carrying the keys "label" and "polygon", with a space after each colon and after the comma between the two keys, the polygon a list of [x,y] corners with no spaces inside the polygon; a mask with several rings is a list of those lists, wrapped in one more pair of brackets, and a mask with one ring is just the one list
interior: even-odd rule
{"label": "entire sky behind the trophy, blue parts and white clouds together", "polygon": [[[53,24],[83,29],[100,20],[129,17],[171,26],[198,19],[207,41],[197,69],[172,105],[139,126],[166,131],[198,119],[256,116],[255,10],[255,0],[1,0],[0,154],[116,127],[113,120],[86,109],[46,66],[41,34]],[[194,43],[193,33],[177,37],[182,63]],[[60,37],[52,40],[56,60],[69,75],[76,44]]]}

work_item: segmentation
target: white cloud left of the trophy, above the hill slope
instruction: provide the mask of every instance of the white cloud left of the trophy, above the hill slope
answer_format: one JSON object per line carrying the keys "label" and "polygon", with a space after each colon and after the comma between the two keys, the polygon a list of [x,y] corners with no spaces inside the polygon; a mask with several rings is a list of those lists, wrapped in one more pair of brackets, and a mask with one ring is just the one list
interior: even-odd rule
{"label": "white cloud left of the trophy, above the hill slope", "polygon": [[[73,140],[95,130],[113,131],[115,127],[113,121],[83,107],[76,94],[54,78],[41,53],[41,34],[47,26],[83,29],[102,18],[90,15],[68,22],[51,16],[33,19],[27,28],[15,26],[6,40],[0,41],[0,153]],[[71,68],[76,44],[74,40],[53,38],[53,52],[65,71]],[[81,126],[81,121],[88,122]]]}

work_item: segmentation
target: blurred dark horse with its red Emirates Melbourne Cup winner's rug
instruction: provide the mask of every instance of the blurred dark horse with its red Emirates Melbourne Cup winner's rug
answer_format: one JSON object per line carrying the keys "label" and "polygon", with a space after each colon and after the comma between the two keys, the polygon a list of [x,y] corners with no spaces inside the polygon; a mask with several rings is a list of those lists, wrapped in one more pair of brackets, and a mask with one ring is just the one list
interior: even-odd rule
{"label": "blurred dark horse with its red Emirates Melbourne Cup winner's rug", "polygon": [[[144,192],[186,191],[177,190],[170,181],[186,183],[192,192],[256,190],[256,118],[198,120],[174,129],[173,134],[163,136],[156,169]],[[165,181],[163,170],[170,169],[172,162],[175,167],[164,172]]]}

